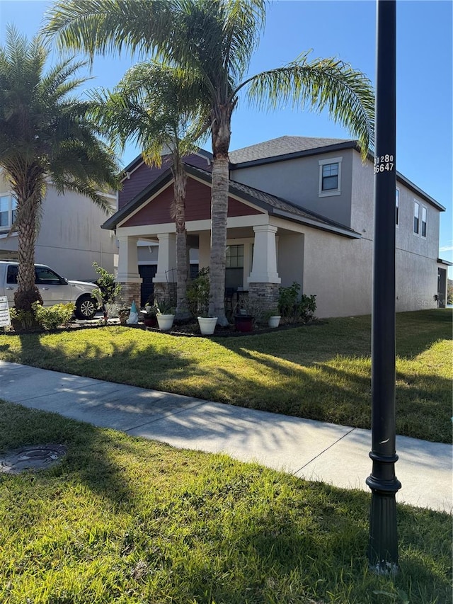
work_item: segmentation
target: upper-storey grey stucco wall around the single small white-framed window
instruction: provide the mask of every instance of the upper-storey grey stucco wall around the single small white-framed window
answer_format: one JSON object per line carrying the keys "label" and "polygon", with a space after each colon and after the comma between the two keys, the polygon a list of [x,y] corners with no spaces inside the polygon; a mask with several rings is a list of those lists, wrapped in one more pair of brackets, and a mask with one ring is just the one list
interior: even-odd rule
{"label": "upper-storey grey stucco wall around the single small white-framed window", "polygon": [[[349,226],[352,149],[306,156],[231,171],[234,181],[287,199],[307,210]],[[341,157],[341,195],[319,197],[319,160]]]}

